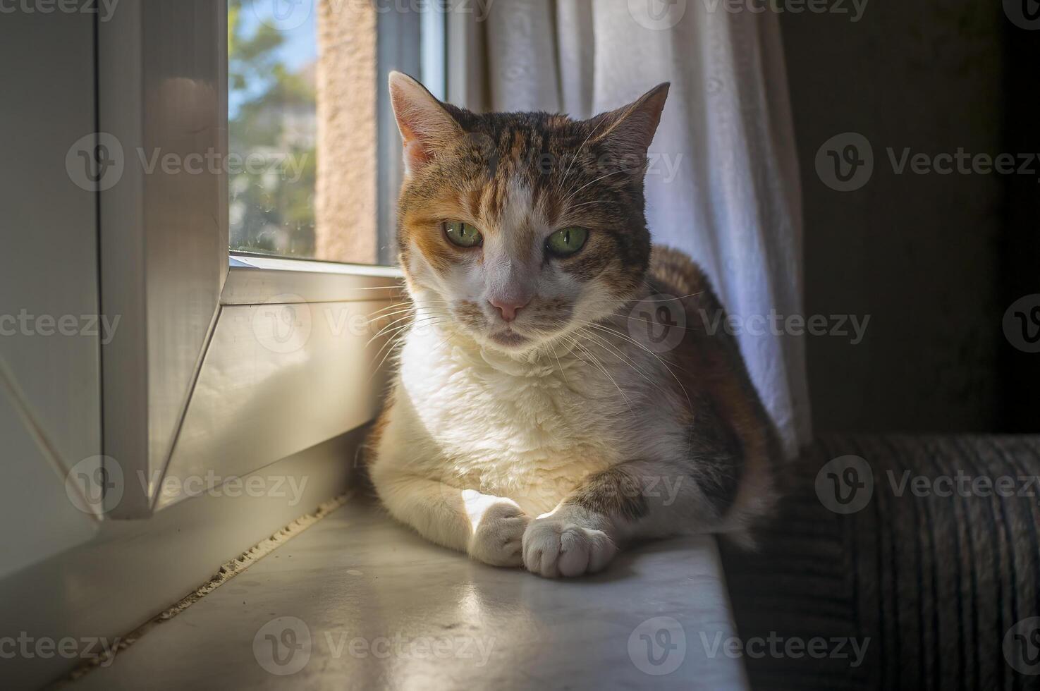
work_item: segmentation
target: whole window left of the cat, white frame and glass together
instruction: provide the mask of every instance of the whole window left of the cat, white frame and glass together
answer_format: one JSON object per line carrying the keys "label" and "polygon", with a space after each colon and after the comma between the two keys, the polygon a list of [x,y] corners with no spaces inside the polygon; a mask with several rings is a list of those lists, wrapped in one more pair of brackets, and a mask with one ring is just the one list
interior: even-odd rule
{"label": "whole window left of the cat, white frame and glass together", "polygon": [[[127,164],[99,190],[101,309],[137,327],[102,351],[103,450],[125,478],[148,479],[110,507],[106,495],[105,515],[138,518],[167,506],[161,483],[198,475],[194,463],[241,476],[378,409],[381,343],[349,317],[399,291],[396,268],[358,264],[392,259],[382,200],[396,197],[400,144],[382,95],[391,69],[425,74],[430,20],[367,0],[120,9],[96,27],[99,132],[128,160],[224,161]],[[286,314],[298,338],[269,348]],[[319,409],[287,434],[280,407],[307,401]],[[202,431],[214,419],[223,435]]]}

